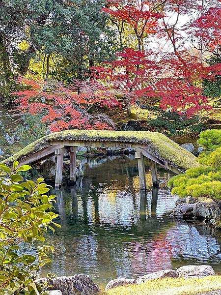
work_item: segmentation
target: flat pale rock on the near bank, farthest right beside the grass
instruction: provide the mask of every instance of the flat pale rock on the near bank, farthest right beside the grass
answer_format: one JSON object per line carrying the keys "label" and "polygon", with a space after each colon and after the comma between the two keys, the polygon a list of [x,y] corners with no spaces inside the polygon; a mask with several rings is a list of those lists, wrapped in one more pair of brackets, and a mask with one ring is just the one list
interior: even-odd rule
{"label": "flat pale rock on the near bank, farthest right beside the grass", "polygon": [[181,266],[176,273],[179,278],[215,275],[212,266]]}

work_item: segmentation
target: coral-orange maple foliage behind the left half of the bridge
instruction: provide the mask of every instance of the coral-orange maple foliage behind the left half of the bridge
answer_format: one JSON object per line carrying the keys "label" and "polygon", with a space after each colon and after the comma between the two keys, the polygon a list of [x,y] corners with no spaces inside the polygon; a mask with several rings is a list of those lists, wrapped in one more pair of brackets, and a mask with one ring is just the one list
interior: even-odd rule
{"label": "coral-orange maple foliage behind the left half of the bridge", "polygon": [[[20,81],[21,82],[21,81]],[[107,116],[91,115],[90,109],[101,106],[120,106],[113,94],[96,80],[76,81],[66,87],[49,81],[42,88],[41,83],[23,79],[29,89],[15,92],[18,98],[16,111],[22,114],[41,115],[42,121],[52,132],[65,129],[112,129]]]}

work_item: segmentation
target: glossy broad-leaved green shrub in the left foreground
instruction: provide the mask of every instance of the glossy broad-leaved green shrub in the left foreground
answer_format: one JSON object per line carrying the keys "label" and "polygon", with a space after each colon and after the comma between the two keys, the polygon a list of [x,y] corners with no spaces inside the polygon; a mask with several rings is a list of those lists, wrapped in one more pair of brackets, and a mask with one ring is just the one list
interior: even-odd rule
{"label": "glossy broad-leaved green shrub in the left foreground", "polygon": [[50,188],[38,178],[36,183],[24,181],[20,173],[31,169],[29,165],[18,166],[13,163],[13,170],[0,164],[0,294],[45,294],[45,285],[33,282],[40,267],[50,262],[48,254],[52,247],[37,247],[36,255],[23,254],[21,243],[31,245],[33,241],[44,241],[47,229],[54,231],[58,226],[54,219],[58,216],[50,211],[55,196],[46,195]]}

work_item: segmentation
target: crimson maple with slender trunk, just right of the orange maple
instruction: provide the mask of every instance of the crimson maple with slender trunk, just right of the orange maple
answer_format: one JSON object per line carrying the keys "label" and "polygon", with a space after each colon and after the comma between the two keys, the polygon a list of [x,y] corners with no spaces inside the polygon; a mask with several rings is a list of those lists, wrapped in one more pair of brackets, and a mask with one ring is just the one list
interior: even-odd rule
{"label": "crimson maple with slender trunk, just right of the orange maple", "polygon": [[156,63],[149,58],[151,54],[125,48],[116,55],[116,60],[91,67],[91,76],[105,80],[112,93],[122,101],[128,115],[131,105],[143,95],[142,84],[147,75],[150,79],[157,71]]}

